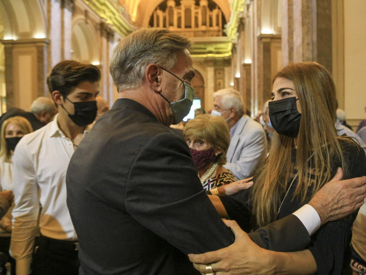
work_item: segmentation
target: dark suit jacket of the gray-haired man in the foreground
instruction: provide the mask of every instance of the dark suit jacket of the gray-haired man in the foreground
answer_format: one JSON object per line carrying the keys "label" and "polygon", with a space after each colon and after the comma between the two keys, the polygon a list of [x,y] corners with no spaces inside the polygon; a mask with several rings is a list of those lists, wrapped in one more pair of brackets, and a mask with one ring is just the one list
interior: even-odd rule
{"label": "dark suit jacket of the gray-haired man in the foreground", "polygon": [[[234,241],[186,142],[133,100],[118,99],[97,121],[70,160],[66,184],[80,275],[199,274],[188,253]],[[268,232],[257,236],[273,237]]]}

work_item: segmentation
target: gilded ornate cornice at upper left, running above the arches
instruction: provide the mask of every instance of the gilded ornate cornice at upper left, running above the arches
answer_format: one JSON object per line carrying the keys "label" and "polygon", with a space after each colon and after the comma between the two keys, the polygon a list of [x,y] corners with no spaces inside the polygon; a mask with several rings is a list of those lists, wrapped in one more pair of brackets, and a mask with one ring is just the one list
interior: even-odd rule
{"label": "gilded ornate cornice at upper left, running above the arches", "polygon": [[113,0],[83,0],[94,12],[111,24],[122,37],[132,33],[136,27],[123,7]]}

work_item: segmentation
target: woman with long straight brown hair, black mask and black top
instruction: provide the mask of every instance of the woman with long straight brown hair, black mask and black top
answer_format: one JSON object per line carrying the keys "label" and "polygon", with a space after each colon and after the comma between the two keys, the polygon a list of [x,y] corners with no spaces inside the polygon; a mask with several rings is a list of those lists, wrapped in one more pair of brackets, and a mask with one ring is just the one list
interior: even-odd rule
{"label": "woman with long straight brown hair, black mask and black top", "polygon": [[[349,137],[336,134],[335,85],[322,65],[287,65],[276,75],[273,93],[269,117],[276,133],[253,189],[220,197],[228,216],[239,224],[249,223],[245,213],[252,211],[256,220],[252,228],[305,205],[335,176],[338,167],[343,169],[344,179],[366,175],[361,147]],[[356,214],[328,222],[312,234],[306,255],[316,274],[341,274],[348,266],[347,250]],[[240,217],[245,220],[240,221]]]}

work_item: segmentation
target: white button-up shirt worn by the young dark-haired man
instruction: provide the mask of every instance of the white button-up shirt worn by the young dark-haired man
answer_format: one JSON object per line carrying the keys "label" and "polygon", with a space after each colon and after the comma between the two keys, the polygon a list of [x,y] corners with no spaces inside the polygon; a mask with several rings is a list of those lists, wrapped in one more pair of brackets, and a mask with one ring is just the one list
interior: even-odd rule
{"label": "white button-up shirt worn by the young dark-haired man", "polygon": [[[10,253],[16,259],[16,274],[30,274],[37,228],[42,235],[76,240],[66,205],[66,171],[74,144],[59,129],[57,117],[41,129],[25,135],[15,148],[13,229]],[[75,140],[85,135],[79,134]]]}

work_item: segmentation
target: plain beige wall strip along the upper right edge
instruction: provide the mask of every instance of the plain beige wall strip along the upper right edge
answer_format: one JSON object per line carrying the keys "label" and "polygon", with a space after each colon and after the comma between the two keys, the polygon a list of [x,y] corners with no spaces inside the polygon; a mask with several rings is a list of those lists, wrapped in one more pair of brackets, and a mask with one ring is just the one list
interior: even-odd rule
{"label": "plain beige wall strip along the upper right edge", "polygon": [[366,4],[344,1],[344,108],[347,121],[365,119],[366,106]]}

